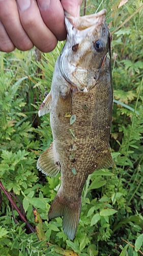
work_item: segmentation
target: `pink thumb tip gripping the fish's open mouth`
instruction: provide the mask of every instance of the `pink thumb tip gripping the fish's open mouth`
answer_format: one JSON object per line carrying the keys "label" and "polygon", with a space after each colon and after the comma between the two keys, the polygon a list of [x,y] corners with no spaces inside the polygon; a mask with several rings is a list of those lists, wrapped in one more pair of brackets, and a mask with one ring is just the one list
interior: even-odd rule
{"label": "pink thumb tip gripping the fish's open mouth", "polygon": [[63,9],[71,16],[78,17],[82,0],[61,0]]}

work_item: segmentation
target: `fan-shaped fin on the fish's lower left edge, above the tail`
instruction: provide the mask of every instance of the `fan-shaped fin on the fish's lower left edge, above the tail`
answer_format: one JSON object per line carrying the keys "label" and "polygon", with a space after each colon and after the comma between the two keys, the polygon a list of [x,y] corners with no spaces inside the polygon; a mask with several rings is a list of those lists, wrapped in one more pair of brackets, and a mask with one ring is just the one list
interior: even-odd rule
{"label": "fan-shaped fin on the fish's lower left edge, above the tail", "polygon": [[54,157],[53,143],[39,157],[37,161],[37,168],[49,177],[55,177],[60,172],[60,163]]}

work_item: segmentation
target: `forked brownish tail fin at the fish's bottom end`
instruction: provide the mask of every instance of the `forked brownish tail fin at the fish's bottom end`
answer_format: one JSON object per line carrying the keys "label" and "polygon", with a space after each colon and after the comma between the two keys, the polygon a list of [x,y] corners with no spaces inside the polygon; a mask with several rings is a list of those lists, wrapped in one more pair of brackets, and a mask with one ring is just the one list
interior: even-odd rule
{"label": "forked brownish tail fin at the fish's bottom end", "polygon": [[81,197],[77,201],[67,201],[60,194],[59,190],[49,209],[48,219],[63,216],[63,231],[68,239],[73,240],[80,217]]}

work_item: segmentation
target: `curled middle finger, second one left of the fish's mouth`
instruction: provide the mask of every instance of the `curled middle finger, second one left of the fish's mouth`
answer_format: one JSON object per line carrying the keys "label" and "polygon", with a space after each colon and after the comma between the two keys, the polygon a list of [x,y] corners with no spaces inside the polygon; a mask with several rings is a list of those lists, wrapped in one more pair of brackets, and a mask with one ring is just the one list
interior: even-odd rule
{"label": "curled middle finger, second one left of the fish's mouth", "polygon": [[43,52],[52,51],[57,39],[47,28],[35,0],[17,0],[20,21],[34,45]]}

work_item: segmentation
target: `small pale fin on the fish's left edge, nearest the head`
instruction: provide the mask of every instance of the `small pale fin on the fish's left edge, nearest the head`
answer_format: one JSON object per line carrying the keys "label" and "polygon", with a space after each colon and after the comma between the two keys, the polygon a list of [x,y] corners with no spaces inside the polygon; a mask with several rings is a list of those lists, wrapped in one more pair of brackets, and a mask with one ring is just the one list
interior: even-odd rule
{"label": "small pale fin on the fish's left edge, nearest the head", "polygon": [[50,107],[51,107],[51,91],[49,92],[49,94],[46,96],[46,98],[41,103],[39,111],[38,111],[38,115],[44,116],[45,114],[49,113]]}

